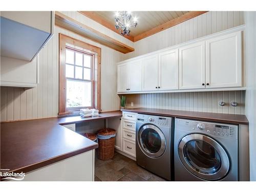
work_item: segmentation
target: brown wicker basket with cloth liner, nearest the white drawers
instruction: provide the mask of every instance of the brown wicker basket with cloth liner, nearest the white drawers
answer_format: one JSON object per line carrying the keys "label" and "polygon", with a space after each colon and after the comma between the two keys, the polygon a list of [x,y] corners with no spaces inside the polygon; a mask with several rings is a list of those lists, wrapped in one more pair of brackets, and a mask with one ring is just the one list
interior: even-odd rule
{"label": "brown wicker basket with cloth liner, nearest the white drawers", "polygon": [[98,136],[98,158],[108,160],[114,157],[116,131],[113,129],[101,129]]}

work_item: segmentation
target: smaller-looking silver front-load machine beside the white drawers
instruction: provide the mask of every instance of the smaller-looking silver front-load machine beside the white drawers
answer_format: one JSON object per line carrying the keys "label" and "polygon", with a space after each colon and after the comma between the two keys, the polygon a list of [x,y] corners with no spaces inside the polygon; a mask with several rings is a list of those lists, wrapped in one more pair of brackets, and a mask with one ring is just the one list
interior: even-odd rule
{"label": "smaller-looking silver front-load machine beside the white drawers", "polygon": [[171,180],[171,129],[170,117],[137,115],[137,164],[167,180]]}

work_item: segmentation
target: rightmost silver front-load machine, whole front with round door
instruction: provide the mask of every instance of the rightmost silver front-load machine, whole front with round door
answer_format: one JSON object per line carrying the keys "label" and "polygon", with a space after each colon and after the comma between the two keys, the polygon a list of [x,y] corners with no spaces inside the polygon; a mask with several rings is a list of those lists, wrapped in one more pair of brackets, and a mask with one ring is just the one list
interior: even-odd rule
{"label": "rightmost silver front-load machine, whole front with round door", "polygon": [[238,181],[238,125],[176,119],[175,181]]}

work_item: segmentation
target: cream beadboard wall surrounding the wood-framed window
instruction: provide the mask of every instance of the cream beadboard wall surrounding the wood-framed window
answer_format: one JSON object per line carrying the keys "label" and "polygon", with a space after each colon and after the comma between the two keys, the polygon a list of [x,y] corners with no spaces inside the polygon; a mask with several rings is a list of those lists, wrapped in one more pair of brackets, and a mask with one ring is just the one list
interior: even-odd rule
{"label": "cream beadboard wall surrounding the wood-framed window", "polygon": [[[88,25],[88,18],[78,12],[62,13],[77,19],[79,22],[87,22]],[[116,94],[116,62],[120,61],[121,53],[55,26],[54,36],[39,53],[39,84],[37,88],[29,90],[1,88],[1,121],[57,116],[58,33],[69,35],[101,48],[101,109],[102,111],[119,110],[119,97]],[[106,33],[108,34],[109,31],[106,30]]]}

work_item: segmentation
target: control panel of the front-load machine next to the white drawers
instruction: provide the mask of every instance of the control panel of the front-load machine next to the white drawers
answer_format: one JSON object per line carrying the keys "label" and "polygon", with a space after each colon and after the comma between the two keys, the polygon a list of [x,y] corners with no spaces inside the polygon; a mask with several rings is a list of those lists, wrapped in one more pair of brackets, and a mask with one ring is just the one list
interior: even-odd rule
{"label": "control panel of the front-load machine next to the white drawers", "polygon": [[170,127],[170,124],[172,123],[172,118],[138,114],[137,122],[140,122],[143,124],[144,123],[152,123],[157,126]]}

